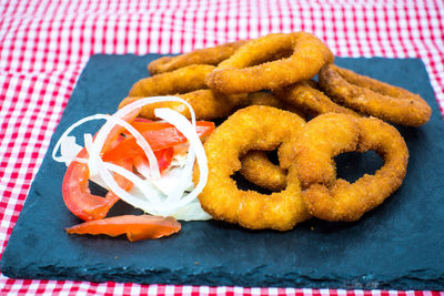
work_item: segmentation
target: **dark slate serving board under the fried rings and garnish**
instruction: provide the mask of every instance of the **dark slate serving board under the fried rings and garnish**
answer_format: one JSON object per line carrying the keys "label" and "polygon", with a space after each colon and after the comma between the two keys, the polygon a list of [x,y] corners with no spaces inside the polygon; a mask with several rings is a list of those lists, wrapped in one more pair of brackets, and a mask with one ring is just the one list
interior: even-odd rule
{"label": "dark slate serving board under the fried rings and garnish", "polygon": [[[157,241],[69,236],[79,223],[61,196],[64,165],[50,153],[80,118],[113,113],[155,54],[93,55],[83,70],[1,258],[13,278],[190,285],[444,289],[444,124],[421,60],[336,59],[420,93],[433,108],[421,127],[398,127],[411,157],[402,187],[356,223],[311,220],[293,231],[251,232],[221,222],[183,223]],[[91,132],[97,126],[82,126]],[[337,159],[356,178],[381,165],[371,154]],[[354,167],[351,170],[350,167]],[[372,169],[373,167],[373,169]],[[117,211],[124,211],[122,204]],[[115,214],[115,213],[114,213]]]}

